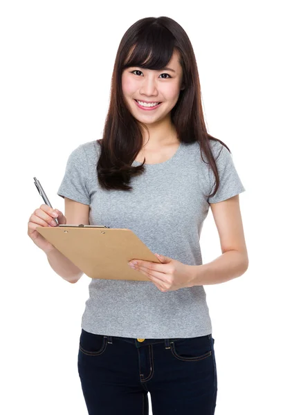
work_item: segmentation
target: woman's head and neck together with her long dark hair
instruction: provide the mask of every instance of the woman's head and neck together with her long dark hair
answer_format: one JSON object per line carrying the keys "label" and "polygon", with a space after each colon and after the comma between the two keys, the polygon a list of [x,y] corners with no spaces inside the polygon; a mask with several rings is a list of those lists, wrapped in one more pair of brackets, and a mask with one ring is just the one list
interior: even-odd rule
{"label": "woman's head and neck together with her long dark hair", "polygon": [[[122,37],[111,80],[109,112],[97,165],[104,190],[131,191],[131,178],[145,172],[146,158],[170,145],[199,142],[219,174],[206,129],[194,50],[185,30],[168,17],[147,17]],[[134,160],[144,157],[142,165]],[[149,157],[148,157],[149,158]]]}

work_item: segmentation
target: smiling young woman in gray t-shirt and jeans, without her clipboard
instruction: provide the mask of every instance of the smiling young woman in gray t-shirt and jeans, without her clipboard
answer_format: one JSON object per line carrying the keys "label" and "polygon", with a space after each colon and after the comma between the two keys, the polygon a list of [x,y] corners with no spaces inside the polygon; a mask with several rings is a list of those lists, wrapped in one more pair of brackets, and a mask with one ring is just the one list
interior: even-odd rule
{"label": "smiling young woman in gray t-shirt and jeans, without her clipboard", "polygon": [[[203,285],[248,268],[244,191],[228,147],[206,130],[188,35],[168,17],[140,19],[118,48],[103,138],[72,151],[57,192],[65,200],[60,223],[131,229],[160,259],[136,259],[149,282],[89,284],[78,353],[89,415],[148,414],[148,392],[154,415],[215,413],[215,340]],[[222,255],[202,264],[210,207]],[[31,230],[52,217],[42,205]],[[52,268],[77,282],[82,271],[37,238]]]}

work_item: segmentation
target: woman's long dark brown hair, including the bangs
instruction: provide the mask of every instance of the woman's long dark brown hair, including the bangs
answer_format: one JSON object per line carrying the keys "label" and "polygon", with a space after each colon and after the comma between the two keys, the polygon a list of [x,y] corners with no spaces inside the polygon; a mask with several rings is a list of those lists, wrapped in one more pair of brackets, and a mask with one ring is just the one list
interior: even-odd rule
{"label": "woman's long dark brown hair, including the bangs", "polygon": [[[105,190],[132,190],[131,176],[143,174],[142,165],[131,166],[143,146],[139,122],[131,115],[122,93],[122,71],[138,66],[156,71],[165,68],[174,50],[179,52],[183,68],[184,89],[171,111],[171,120],[180,142],[199,142],[208,164],[215,174],[215,190],[219,187],[219,174],[212,155],[210,140],[221,142],[208,134],[203,118],[201,86],[194,50],[185,30],[170,17],[146,17],[136,21],[120,41],[111,78],[111,98],[104,124],[97,165],[98,182]],[[129,53],[131,51],[131,53]],[[144,125],[144,124],[143,124]],[[147,129],[147,127],[145,126]],[[228,151],[230,151],[228,149]],[[206,163],[205,160],[203,160]]]}

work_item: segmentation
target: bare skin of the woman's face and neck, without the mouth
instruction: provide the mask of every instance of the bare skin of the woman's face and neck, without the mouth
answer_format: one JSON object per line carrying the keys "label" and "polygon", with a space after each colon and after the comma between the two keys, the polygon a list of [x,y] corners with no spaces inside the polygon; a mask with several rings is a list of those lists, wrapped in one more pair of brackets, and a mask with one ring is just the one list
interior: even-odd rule
{"label": "bare skin of the woman's face and neck, without the mouth", "polygon": [[[183,89],[183,68],[179,63],[179,53],[174,51],[170,62],[170,70],[153,71],[133,66],[122,73],[122,93],[136,120],[147,124],[148,133],[141,125],[143,144],[147,151],[161,149],[170,143],[179,142],[171,122],[170,111],[179,99]],[[134,100],[144,102],[163,102],[154,111],[139,109]]]}

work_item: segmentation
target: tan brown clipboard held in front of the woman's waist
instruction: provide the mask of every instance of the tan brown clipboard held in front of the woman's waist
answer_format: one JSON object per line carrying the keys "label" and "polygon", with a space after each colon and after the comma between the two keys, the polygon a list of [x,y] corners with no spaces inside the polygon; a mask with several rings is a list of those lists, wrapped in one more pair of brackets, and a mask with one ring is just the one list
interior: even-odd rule
{"label": "tan brown clipboard held in front of the woman's waist", "polygon": [[90,278],[148,281],[129,267],[131,259],[161,264],[140,238],[129,229],[104,225],[59,225],[36,228],[57,250]]}

